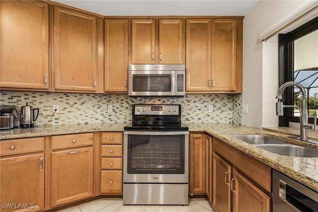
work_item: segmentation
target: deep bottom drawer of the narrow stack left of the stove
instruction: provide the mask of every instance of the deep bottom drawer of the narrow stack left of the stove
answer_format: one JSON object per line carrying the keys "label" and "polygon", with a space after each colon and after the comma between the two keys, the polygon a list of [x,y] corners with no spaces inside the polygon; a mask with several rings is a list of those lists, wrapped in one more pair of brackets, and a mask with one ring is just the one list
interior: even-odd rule
{"label": "deep bottom drawer of the narrow stack left of the stove", "polygon": [[100,179],[100,193],[121,194],[122,193],[122,171],[102,170]]}

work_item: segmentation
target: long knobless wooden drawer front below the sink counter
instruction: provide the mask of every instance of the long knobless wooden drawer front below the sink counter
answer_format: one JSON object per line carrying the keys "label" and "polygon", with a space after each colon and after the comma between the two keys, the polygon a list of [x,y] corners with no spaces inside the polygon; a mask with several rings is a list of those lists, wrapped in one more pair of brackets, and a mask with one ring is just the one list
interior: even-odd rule
{"label": "long knobless wooden drawer front below the sink counter", "polygon": [[271,192],[271,168],[234,147],[213,138],[213,151],[224,157],[250,179]]}

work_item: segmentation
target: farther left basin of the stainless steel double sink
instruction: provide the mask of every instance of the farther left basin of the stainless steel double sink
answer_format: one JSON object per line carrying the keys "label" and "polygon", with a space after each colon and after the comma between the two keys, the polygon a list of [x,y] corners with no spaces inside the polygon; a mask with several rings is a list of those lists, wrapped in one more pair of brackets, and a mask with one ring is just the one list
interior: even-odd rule
{"label": "farther left basin of the stainless steel double sink", "polygon": [[284,144],[287,143],[285,141],[280,141],[277,139],[273,139],[266,136],[260,136],[260,135],[230,135],[231,137],[234,137],[236,139],[239,139],[241,141],[245,141],[250,144]]}

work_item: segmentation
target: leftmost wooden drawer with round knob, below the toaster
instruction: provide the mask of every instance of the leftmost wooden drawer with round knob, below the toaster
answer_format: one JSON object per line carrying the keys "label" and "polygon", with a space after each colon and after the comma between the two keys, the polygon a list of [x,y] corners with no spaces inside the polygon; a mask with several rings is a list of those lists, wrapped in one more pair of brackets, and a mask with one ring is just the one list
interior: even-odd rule
{"label": "leftmost wooden drawer with round knob, below the toaster", "polygon": [[22,154],[28,152],[44,151],[44,137],[28,139],[12,139],[0,142],[0,155]]}

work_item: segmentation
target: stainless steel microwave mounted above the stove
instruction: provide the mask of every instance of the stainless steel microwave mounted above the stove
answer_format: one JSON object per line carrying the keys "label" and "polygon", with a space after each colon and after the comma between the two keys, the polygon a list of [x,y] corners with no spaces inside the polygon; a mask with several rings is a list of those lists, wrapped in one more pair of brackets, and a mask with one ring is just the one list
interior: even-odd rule
{"label": "stainless steel microwave mounted above the stove", "polygon": [[184,96],[185,65],[129,65],[129,96]]}

